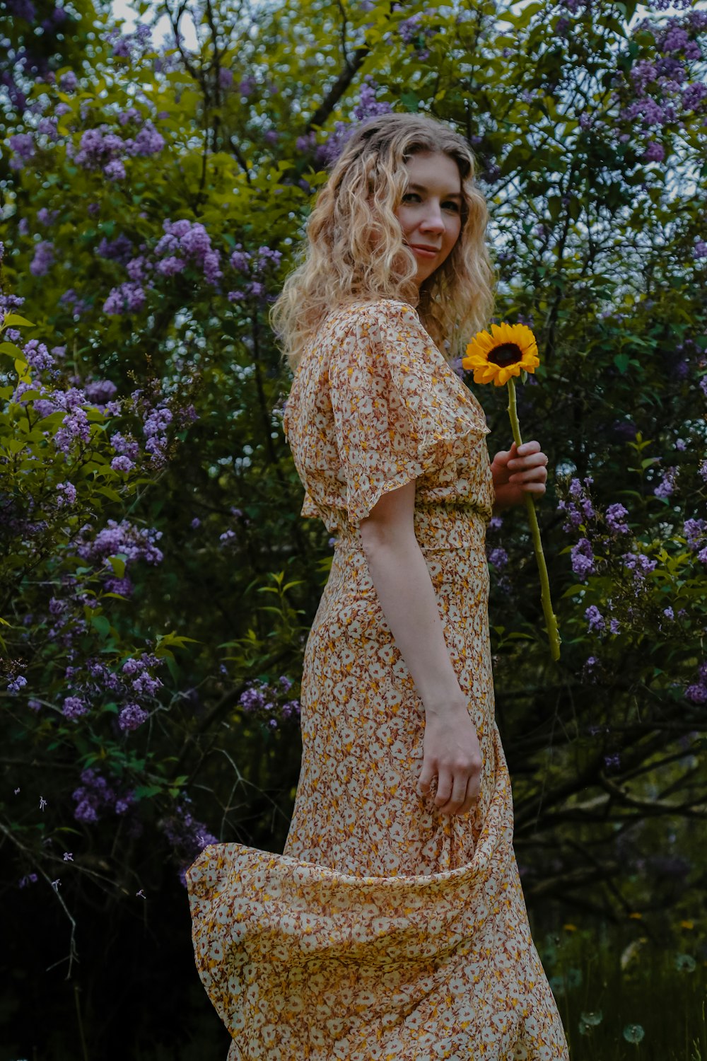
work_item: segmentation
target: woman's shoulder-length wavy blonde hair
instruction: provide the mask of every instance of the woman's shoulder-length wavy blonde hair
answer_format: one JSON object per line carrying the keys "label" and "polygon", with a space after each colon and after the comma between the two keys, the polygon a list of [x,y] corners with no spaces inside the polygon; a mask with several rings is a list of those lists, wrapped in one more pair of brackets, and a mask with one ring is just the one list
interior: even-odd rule
{"label": "woman's shoulder-length wavy blonde hair", "polygon": [[[420,152],[454,159],[461,182],[461,230],[450,254],[421,285],[395,216],[409,182],[405,162]],[[397,299],[418,310],[442,353],[459,356],[495,307],[497,274],[485,245],[489,211],[474,181],[466,141],[423,115],[387,114],[358,126],[334,163],[295,253],[296,267],[270,307],[282,361],[294,371],[331,310],[352,301]],[[372,239],[373,238],[373,239]],[[442,347],[448,341],[449,350]]]}

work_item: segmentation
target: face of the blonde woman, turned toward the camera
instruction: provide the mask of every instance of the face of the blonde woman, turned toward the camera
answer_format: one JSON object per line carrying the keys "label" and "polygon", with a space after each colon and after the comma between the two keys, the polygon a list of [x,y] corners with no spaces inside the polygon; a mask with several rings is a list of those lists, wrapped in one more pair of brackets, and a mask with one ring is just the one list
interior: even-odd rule
{"label": "face of the blonde woman, turned toward the camera", "polygon": [[[418,262],[418,286],[449,256],[461,231],[461,179],[457,163],[441,152],[419,152],[405,163],[408,190],[395,210]],[[424,248],[430,248],[425,251]]]}

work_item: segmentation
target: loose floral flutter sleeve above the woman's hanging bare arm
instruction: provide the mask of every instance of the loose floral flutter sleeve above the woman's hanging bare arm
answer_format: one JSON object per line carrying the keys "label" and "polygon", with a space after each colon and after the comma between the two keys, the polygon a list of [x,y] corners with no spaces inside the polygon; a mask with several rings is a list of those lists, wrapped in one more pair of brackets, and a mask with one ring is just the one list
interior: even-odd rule
{"label": "loose floral flutter sleeve above the woman's hanging bare arm", "polygon": [[469,454],[490,429],[411,306],[373,302],[353,321],[329,383],[347,510],[358,526],[384,493]]}

